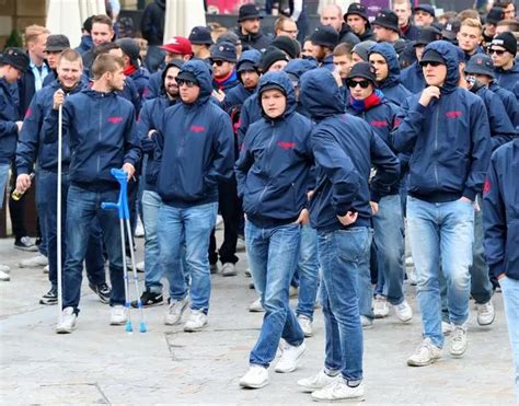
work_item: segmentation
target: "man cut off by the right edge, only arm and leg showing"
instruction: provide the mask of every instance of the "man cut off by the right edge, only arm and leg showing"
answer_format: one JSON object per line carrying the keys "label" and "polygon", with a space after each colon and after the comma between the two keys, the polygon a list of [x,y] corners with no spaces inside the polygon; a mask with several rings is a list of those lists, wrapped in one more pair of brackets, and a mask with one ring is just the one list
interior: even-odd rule
{"label": "man cut off by the right edge, only arm and leg showing", "polygon": [[492,155],[483,188],[485,253],[491,272],[503,289],[503,300],[516,364],[519,402],[519,139]]}

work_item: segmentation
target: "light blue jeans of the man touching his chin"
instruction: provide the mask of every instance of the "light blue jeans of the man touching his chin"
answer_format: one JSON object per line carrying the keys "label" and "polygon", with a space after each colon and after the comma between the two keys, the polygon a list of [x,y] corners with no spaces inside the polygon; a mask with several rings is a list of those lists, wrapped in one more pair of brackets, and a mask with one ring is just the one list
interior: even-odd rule
{"label": "light blue jeans of the man touching his chin", "polygon": [[447,282],[449,320],[462,325],[469,318],[474,209],[472,202],[462,200],[431,204],[410,196],[407,224],[418,279],[423,335],[442,347],[438,274],[441,270]]}

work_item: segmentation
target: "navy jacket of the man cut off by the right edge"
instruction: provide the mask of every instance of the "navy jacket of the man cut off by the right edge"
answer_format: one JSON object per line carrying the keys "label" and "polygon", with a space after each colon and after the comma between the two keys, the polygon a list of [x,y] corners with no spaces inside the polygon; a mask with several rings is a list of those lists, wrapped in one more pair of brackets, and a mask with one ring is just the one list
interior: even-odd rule
{"label": "navy jacket of the man cut off by the right edge", "polygon": [[485,181],[483,227],[486,262],[498,276],[519,280],[519,139],[492,155]]}

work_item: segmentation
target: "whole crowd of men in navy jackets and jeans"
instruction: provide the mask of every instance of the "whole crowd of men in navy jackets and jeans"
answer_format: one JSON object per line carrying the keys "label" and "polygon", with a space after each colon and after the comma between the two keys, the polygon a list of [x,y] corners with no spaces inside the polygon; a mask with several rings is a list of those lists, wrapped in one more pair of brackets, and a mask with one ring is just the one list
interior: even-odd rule
{"label": "whole crowd of men in navy jackets and jeans", "polygon": [[[423,340],[407,364],[429,366],[443,347],[463,356],[470,299],[488,326],[493,294],[503,291],[519,387],[514,2],[437,19],[429,4],[395,0],[372,21],[361,3],[344,14],[328,5],[301,44],[291,18],[279,18],[275,36],[262,33],[262,18],[245,4],[235,31],[175,36],[153,50],[163,61],[152,72],[136,40],[114,38],[106,15],[85,21],[76,50],[66,36],[30,26],[26,51],[1,55],[0,189],[10,170],[16,192],[37,185],[41,255],[25,266],[48,263],[42,304],[58,302],[61,187],[56,332],[76,326],[83,263],[91,289],[109,303],[109,323],[127,321],[122,244],[134,247],[120,241],[117,213],[101,209],[117,200],[111,169],[119,167],[134,227],[141,218],[146,233],[141,301],[163,304],[166,278],[166,325],[189,308],[184,330],[207,326],[211,274],[238,274],[244,237],[258,297],[250,310],[265,316],[241,386],[265,386],[278,352],[276,372],[298,367],[319,292],[324,364],[298,384],[315,401],[361,397],[362,328],[391,309],[412,320],[410,262]],[[9,280],[9,268],[0,270]]]}

